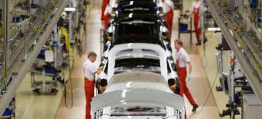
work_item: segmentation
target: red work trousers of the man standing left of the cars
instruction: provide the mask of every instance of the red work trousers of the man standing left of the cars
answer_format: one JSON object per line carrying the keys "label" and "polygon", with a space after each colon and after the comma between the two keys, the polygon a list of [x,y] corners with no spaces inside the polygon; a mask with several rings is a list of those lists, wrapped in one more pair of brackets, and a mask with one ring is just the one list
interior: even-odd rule
{"label": "red work trousers of the man standing left of the cars", "polygon": [[94,97],[94,80],[89,80],[85,77],[85,93],[87,99],[86,105],[86,119],[91,119],[90,110],[91,110],[91,98]]}

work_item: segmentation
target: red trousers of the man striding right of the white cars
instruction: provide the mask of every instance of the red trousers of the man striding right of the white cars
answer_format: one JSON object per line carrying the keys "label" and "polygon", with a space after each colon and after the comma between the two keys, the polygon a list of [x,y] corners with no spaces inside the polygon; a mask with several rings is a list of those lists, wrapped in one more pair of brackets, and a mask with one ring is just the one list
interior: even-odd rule
{"label": "red trousers of the man striding right of the white cars", "polygon": [[195,105],[196,102],[193,99],[192,95],[190,94],[187,86],[186,86],[186,75],[187,75],[187,71],[186,68],[179,68],[178,67],[178,77],[180,79],[180,96],[184,96],[184,94],[186,95],[186,97],[188,98],[189,102],[191,105]]}

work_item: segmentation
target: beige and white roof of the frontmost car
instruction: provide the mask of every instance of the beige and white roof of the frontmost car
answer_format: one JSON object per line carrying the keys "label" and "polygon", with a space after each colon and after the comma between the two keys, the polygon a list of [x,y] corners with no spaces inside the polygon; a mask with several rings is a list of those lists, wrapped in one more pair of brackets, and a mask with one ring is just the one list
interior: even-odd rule
{"label": "beige and white roof of the frontmost car", "polygon": [[129,71],[115,74],[110,79],[105,93],[129,89],[152,89],[173,93],[161,74],[147,71]]}

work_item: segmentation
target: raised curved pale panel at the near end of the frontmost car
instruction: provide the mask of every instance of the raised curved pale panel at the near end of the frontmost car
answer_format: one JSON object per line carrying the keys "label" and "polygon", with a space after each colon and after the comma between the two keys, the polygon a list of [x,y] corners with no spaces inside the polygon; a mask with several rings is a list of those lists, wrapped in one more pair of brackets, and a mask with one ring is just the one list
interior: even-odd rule
{"label": "raised curved pale panel at the near end of the frontmost car", "polygon": [[163,92],[152,89],[130,89],[104,93],[92,98],[91,111],[110,106],[125,105],[152,105],[169,106],[182,114],[184,113],[184,99],[174,93]]}

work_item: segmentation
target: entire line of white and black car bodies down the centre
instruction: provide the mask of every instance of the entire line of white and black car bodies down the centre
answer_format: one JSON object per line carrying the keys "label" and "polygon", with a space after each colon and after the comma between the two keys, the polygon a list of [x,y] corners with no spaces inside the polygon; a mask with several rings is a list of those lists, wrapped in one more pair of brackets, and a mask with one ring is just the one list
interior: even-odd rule
{"label": "entire line of white and black car bodies down the centre", "polygon": [[[104,92],[92,98],[92,119],[184,119],[184,100],[168,85],[179,79],[170,43],[162,39],[162,0],[111,0],[113,39],[103,55]],[[111,13],[111,12],[110,12]],[[98,86],[97,86],[98,88]]]}

